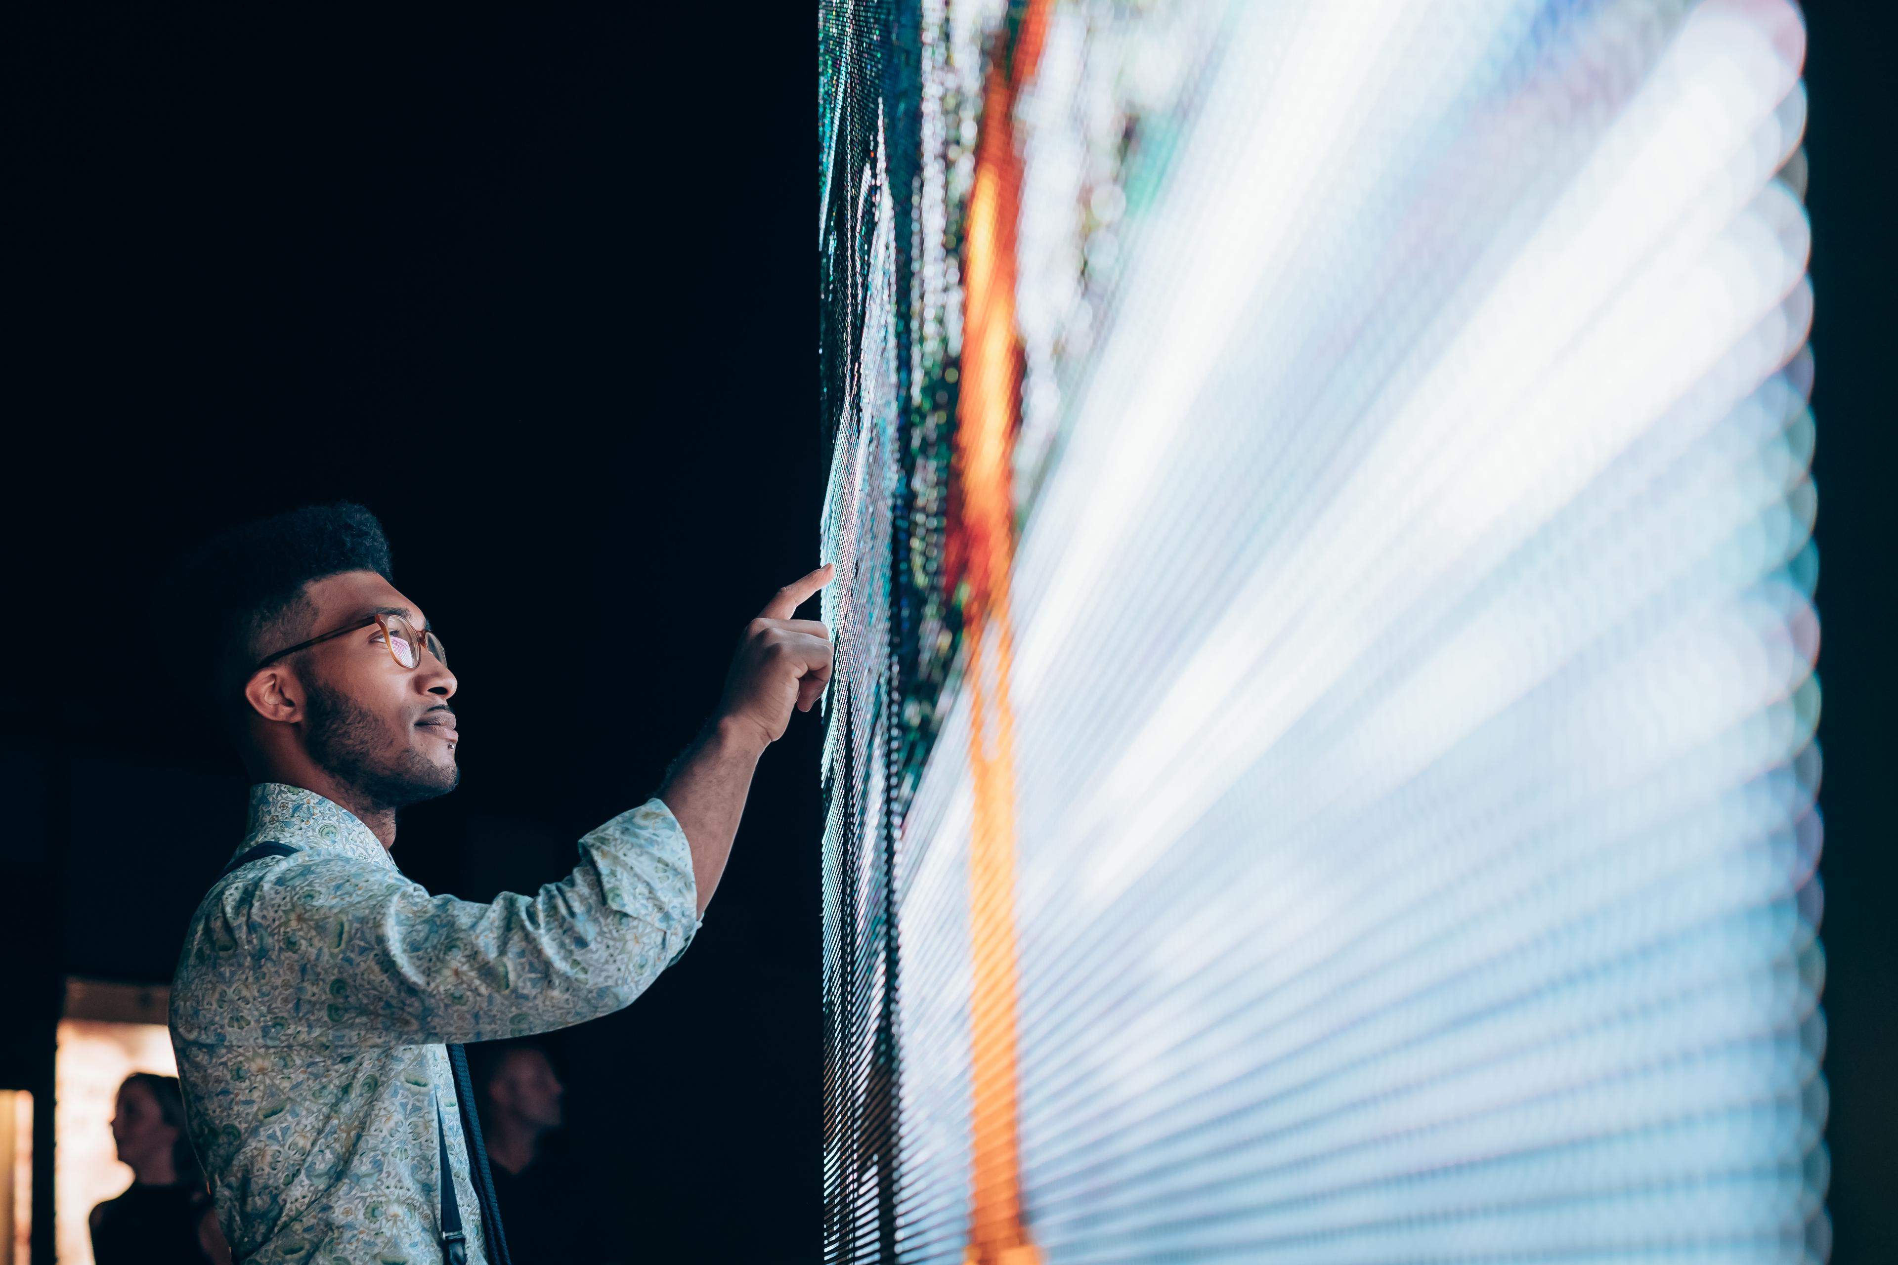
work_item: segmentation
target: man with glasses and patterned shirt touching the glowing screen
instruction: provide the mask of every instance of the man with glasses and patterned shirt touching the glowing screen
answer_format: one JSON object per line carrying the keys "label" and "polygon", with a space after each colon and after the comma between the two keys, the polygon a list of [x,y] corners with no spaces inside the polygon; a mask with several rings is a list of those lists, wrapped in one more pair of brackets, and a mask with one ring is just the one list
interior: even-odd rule
{"label": "man with glasses and patterned shirt touching the glowing screen", "polygon": [[607,1015],[676,962],[759,755],[831,671],[826,628],[793,618],[824,567],[752,620],[698,742],[581,840],[571,874],[492,905],[431,897],[389,848],[397,810],[459,778],[456,677],[389,577],[381,525],[336,504],[218,537],[169,590],[252,781],[171,994],[192,1142],[239,1261],[505,1265],[459,1043]]}

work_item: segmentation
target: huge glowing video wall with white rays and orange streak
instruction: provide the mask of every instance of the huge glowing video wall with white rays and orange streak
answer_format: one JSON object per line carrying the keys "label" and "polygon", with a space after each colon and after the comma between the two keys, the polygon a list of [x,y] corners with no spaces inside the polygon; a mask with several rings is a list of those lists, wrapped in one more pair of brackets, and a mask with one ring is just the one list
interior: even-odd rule
{"label": "huge glowing video wall with white rays and orange streak", "polygon": [[826,0],[829,1261],[1818,1261],[1788,0]]}

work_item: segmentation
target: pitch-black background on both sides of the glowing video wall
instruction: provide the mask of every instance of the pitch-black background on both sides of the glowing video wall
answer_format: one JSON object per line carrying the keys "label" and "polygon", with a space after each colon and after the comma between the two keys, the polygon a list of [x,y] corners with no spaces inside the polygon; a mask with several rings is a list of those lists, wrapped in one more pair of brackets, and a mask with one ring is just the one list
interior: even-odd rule
{"label": "pitch-black background on both sides of the glowing video wall", "polygon": [[[816,561],[816,57],[801,4],[6,19],[0,1073],[63,973],[163,981],[239,779],[140,632],[154,569],[351,497],[461,679],[421,882],[564,872]],[[1889,6],[1811,21],[1832,1210],[1898,1259]],[[634,1259],[818,1237],[816,721],[769,753],[685,960],[558,1041]],[[42,1204],[42,1223],[46,1221]],[[44,1233],[44,1231],[42,1231]],[[44,1250],[44,1248],[42,1248]]]}

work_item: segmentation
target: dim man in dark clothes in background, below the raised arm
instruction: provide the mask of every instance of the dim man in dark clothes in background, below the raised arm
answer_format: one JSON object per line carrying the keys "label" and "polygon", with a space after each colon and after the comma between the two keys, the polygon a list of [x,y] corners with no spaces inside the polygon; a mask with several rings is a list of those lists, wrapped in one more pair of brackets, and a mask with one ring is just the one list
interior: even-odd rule
{"label": "dim man in dark clothes in background, below the raised arm", "polygon": [[624,1201],[607,1204],[579,1164],[547,1146],[547,1134],[560,1128],[566,1094],[547,1051],[531,1043],[478,1047],[474,1091],[514,1256],[573,1265],[626,1257],[607,1233],[617,1225],[621,1242],[632,1233]]}

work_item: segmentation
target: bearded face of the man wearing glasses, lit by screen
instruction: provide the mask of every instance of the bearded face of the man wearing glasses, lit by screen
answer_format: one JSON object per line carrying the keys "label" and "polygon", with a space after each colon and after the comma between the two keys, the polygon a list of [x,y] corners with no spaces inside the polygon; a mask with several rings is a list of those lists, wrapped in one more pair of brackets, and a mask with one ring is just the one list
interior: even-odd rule
{"label": "bearded face of the man wearing glasses, lit by screen", "polygon": [[[425,614],[374,571],[345,571],[306,590],[315,605],[309,637],[370,614],[400,614],[418,632]],[[298,637],[300,641],[302,637]],[[402,668],[378,624],[290,656],[306,690],[304,745],[309,759],[351,785],[374,808],[404,808],[456,789],[456,677],[421,651]]]}

